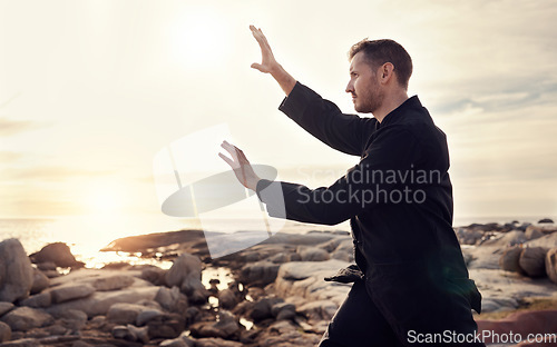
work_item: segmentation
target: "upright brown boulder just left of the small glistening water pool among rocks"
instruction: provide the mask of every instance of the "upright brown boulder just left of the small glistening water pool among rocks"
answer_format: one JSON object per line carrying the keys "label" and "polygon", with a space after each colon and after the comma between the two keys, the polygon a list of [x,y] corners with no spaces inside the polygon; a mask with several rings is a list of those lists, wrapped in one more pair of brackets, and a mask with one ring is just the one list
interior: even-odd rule
{"label": "upright brown boulder just left of the small glistening water pool among rocks", "polygon": [[202,284],[202,261],[199,258],[182,254],[165,275],[168,287],[177,286],[190,303],[203,304],[208,291]]}

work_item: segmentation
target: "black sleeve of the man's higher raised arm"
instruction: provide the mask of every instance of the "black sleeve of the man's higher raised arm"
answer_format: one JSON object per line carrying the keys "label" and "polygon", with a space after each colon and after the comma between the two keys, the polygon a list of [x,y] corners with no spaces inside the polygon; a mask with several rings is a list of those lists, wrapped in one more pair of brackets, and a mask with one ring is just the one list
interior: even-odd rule
{"label": "black sleeve of the man's higher raised arm", "polygon": [[353,156],[362,155],[377,123],[374,118],[342,113],[336,105],[300,82],[278,109],[325,145]]}

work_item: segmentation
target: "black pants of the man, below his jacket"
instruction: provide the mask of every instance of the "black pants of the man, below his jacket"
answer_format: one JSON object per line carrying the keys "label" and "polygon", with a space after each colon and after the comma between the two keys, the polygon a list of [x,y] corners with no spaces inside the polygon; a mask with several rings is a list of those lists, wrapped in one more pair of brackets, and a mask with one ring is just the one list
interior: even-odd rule
{"label": "black pants of the man, below his jacket", "polygon": [[[319,346],[485,346],[472,340],[477,325],[463,296],[420,287],[382,286],[372,298],[364,280],[354,282]],[[433,334],[438,334],[437,341]],[[468,343],[463,338],[469,338]]]}

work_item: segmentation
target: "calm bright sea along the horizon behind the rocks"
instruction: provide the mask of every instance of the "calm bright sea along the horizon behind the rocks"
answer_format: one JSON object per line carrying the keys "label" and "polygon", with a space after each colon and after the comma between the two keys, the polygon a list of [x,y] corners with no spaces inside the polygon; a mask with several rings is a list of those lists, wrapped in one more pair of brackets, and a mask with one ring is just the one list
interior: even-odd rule
{"label": "calm bright sea along the horizon behind the rocks", "polygon": [[[465,226],[471,222],[508,222],[512,219],[536,222],[543,217],[526,218],[460,218],[455,226]],[[238,230],[258,230],[261,221],[246,219],[222,219],[212,222],[213,231],[234,232]],[[88,267],[99,267],[106,262],[124,260],[121,255],[98,252],[110,241],[134,235],[173,231],[182,229],[202,229],[196,220],[176,219],[166,216],[94,216],[94,217],[59,217],[59,218],[29,218],[0,219],[0,240],[18,238],[28,254],[40,250],[49,242],[62,241],[70,246],[71,251]],[[310,230],[350,230],[349,222],[338,226],[317,226],[286,221],[281,231],[305,234]],[[146,262],[145,259],[127,257],[126,261]],[[159,264],[160,265],[160,264]],[[167,265],[169,266],[169,265]]]}

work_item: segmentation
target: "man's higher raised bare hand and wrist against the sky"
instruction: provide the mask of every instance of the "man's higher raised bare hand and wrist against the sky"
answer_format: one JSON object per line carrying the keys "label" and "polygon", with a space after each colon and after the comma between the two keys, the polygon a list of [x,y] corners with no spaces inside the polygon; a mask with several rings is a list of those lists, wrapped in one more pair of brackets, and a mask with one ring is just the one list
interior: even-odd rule
{"label": "man's higher raised bare hand and wrist against the sky", "polygon": [[284,68],[276,62],[275,57],[273,56],[273,51],[271,50],[271,46],[267,42],[267,39],[263,34],[261,29],[255,28],[254,26],[250,26],[252,30],[252,34],[260,43],[261,48],[261,63],[252,63],[252,68],[260,70],[264,73],[271,73],[271,76],[278,82],[282,90],[286,96],[290,95],[294,86],[296,85],[296,80]]}

